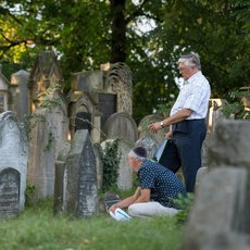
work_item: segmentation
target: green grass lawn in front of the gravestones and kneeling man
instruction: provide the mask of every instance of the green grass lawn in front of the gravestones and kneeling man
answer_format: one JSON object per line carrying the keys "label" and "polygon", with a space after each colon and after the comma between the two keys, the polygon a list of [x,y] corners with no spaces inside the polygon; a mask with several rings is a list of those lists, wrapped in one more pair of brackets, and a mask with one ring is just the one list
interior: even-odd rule
{"label": "green grass lawn in front of the gravestones and kneeling man", "polygon": [[52,200],[0,222],[0,249],[155,249],[177,250],[183,225],[173,217],[132,218],[116,222],[109,214],[73,218],[52,213]]}

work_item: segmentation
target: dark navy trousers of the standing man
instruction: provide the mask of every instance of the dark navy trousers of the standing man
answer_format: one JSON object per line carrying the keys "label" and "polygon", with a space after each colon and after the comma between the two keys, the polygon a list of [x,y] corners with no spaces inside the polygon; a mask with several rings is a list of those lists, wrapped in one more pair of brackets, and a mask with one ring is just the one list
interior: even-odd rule
{"label": "dark navy trousers of the standing man", "polygon": [[159,162],[176,173],[183,167],[186,189],[195,191],[197,171],[201,166],[201,147],[207,126],[202,120],[185,120],[173,124],[172,143],[167,145]]}

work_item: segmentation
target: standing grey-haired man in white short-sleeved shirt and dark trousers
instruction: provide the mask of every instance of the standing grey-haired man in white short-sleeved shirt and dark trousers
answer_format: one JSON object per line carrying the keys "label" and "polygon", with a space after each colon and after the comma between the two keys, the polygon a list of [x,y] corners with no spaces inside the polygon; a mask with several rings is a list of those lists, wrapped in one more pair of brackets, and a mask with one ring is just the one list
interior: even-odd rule
{"label": "standing grey-haired man in white short-sleeved shirt and dark trousers", "polygon": [[208,79],[201,73],[197,53],[184,54],[178,60],[178,70],[184,77],[170,117],[149,125],[151,132],[170,126],[167,137],[172,143],[160,163],[176,173],[183,167],[186,189],[195,190],[197,171],[201,166],[201,147],[205,138],[205,116],[209,108],[211,89]]}

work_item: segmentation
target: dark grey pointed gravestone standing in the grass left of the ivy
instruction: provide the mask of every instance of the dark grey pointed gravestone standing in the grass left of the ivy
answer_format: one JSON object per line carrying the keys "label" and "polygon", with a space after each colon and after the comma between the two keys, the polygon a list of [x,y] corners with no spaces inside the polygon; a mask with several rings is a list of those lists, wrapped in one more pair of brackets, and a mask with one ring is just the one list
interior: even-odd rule
{"label": "dark grey pointed gravestone standing in the grass left of the ivy", "polygon": [[77,130],[66,159],[66,210],[78,217],[97,213],[96,157],[88,130]]}

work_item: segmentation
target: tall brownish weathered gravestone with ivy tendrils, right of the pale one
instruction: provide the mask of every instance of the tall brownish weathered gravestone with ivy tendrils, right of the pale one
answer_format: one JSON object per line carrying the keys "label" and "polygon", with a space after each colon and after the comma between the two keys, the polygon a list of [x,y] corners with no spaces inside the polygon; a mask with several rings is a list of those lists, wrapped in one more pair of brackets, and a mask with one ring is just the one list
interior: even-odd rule
{"label": "tall brownish weathered gravestone with ivy tendrils, right of the pale one", "polygon": [[67,136],[64,99],[53,92],[51,103],[38,108],[30,123],[28,182],[35,186],[35,199],[54,195],[55,159]]}

